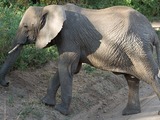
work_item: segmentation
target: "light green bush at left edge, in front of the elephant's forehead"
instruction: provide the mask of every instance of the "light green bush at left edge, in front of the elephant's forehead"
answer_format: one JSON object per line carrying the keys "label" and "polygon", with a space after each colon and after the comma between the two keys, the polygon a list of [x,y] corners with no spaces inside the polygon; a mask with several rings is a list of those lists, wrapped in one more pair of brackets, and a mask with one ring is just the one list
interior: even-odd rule
{"label": "light green bush at left edge, in front of the elephant's forehead", "polygon": [[15,36],[22,11],[0,6],[0,63],[2,64]]}

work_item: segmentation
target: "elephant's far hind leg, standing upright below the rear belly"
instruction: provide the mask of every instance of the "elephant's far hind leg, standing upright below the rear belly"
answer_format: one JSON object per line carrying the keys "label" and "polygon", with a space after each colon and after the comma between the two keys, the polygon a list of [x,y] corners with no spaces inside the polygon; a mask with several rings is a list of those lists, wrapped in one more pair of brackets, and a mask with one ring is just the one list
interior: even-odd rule
{"label": "elephant's far hind leg, standing upright below the rear belly", "polygon": [[139,79],[132,78],[131,75],[125,75],[129,87],[128,103],[123,110],[123,115],[137,114],[141,112],[139,101]]}

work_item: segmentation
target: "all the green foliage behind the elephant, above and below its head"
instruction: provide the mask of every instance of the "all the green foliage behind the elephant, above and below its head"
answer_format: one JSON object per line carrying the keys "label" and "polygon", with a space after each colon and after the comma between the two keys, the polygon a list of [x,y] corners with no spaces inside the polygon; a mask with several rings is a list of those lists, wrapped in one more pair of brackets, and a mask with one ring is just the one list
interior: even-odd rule
{"label": "all the green foliage behind the elephant, above and below its head", "polygon": [[[93,9],[126,5],[140,11],[148,18],[159,19],[160,16],[159,0],[0,0],[0,64],[3,64],[14,40],[21,17],[30,5],[44,6],[65,4],[66,2]],[[47,61],[57,58],[57,56],[55,47],[37,50],[34,45],[28,45],[24,47],[14,68],[39,67]],[[86,69],[90,68],[87,66]]]}

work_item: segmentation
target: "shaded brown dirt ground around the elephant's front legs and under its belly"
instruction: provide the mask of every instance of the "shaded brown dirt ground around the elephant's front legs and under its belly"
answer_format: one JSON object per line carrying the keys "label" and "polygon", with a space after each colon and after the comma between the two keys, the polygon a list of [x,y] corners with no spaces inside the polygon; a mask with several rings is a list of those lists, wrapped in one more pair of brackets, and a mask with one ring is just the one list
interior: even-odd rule
{"label": "shaded brown dirt ground around the elephant's front legs and under its belly", "polygon": [[[0,87],[0,120],[107,120],[114,108],[127,103],[128,88],[122,75],[100,70],[86,73],[82,68],[74,76],[70,115],[64,116],[41,103],[56,68],[56,62],[49,62],[43,68],[11,72],[7,76],[10,86]],[[141,97],[152,94],[145,83],[140,87]],[[59,103],[60,91],[56,99]]]}

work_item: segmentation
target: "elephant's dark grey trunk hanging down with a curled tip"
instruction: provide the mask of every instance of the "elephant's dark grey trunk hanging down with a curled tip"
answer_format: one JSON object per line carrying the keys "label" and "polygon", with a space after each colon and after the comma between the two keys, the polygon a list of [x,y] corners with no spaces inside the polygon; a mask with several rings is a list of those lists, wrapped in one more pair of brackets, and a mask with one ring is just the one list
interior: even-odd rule
{"label": "elephant's dark grey trunk hanging down with a curled tip", "polygon": [[15,61],[17,60],[20,51],[22,50],[23,45],[16,45],[13,47],[13,49],[9,52],[7,59],[5,60],[4,64],[2,65],[0,69],[0,84],[2,86],[8,86],[9,82],[5,80],[5,76],[10,70],[10,68],[13,66]]}

